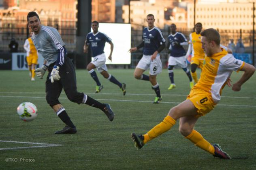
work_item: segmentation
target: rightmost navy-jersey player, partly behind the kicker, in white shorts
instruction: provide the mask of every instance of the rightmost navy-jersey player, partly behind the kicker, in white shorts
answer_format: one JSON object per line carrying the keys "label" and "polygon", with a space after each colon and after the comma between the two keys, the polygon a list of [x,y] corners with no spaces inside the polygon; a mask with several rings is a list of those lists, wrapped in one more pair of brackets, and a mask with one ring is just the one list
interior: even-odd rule
{"label": "rightmost navy-jersey player, partly behind the kicker, in white shorts", "polygon": [[169,78],[171,80],[171,85],[168,90],[171,90],[176,87],[174,83],[174,74],[173,74],[173,67],[175,65],[181,66],[181,68],[186,72],[190,81],[190,88],[194,86],[194,82],[192,76],[190,74],[190,70],[188,69],[188,63],[186,61],[186,51],[182,46],[188,45],[188,40],[186,37],[179,32],[176,32],[176,25],[171,24],[171,35],[168,36],[168,44],[167,48],[170,51],[170,57],[168,60],[168,72]]}

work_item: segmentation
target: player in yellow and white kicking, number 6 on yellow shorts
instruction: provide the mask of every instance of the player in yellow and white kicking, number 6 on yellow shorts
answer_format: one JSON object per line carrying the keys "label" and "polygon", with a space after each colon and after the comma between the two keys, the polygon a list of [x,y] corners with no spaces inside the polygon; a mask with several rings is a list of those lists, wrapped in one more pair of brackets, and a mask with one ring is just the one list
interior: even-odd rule
{"label": "player in yellow and white kicking, number 6 on yellow shorts", "polygon": [[240,91],[243,83],[254,74],[255,67],[236,59],[232,54],[228,54],[226,50],[220,48],[220,34],[217,30],[206,29],[201,36],[202,48],[207,55],[201,78],[191,89],[187,100],[171,108],[160,124],[157,124],[145,135],[132,133],[131,137],[138,149],[141,149],[148,141],[169,131],[179,119],[179,132],[197,147],[211,153],[214,157],[231,159],[218,144],[211,145],[206,141],[200,133],[194,130],[194,126],[200,116],[205,116],[218,104],[224,86],[226,84],[232,86],[229,78],[233,71],[244,72],[232,86],[233,91]]}

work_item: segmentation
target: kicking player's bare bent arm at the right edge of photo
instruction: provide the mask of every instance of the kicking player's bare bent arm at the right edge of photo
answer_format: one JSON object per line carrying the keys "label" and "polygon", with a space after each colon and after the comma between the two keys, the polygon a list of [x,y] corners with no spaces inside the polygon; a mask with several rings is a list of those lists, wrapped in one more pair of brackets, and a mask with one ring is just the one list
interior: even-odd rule
{"label": "kicking player's bare bent arm at the right edge of photo", "polygon": [[240,91],[241,90],[241,86],[243,85],[243,83],[245,83],[248,79],[250,79],[250,77],[252,77],[252,75],[255,72],[255,67],[252,66],[251,64],[247,64],[245,63],[243,68],[241,68],[241,71],[244,71],[242,77],[233,84],[232,90],[233,91]]}

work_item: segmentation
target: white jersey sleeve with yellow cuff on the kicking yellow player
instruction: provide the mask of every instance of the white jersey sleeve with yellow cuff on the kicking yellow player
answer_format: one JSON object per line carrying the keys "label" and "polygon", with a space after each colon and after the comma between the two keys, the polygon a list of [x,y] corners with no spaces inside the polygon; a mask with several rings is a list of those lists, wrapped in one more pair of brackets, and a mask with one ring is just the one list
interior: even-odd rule
{"label": "white jersey sleeve with yellow cuff on the kicking yellow player", "polygon": [[220,64],[226,70],[238,72],[243,68],[245,63],[242,60],[236,59],[232,54],[227,54],[220,60]]}

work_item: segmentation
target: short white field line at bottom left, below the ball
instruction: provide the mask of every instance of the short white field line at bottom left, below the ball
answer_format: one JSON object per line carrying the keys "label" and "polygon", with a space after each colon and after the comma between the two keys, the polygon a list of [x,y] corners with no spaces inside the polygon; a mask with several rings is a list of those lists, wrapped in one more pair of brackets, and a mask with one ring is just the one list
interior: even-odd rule
{"label": "short white field line at bottom left, below the ball", "polygon": [[38,146],[28,146],[28,147],[4,147],[0,148],[0,150],[15,150],[15,149],[29,149],[29,148],[36,148],[36,147],[54,147],[54,146],[62,146],[60,144],[49,144],[49,143],[34,143],[34,142],[20,142],[20,141],[1,141],[0,142],[8,142],[8,143],[25,143],[25,144],[32,144]]}

